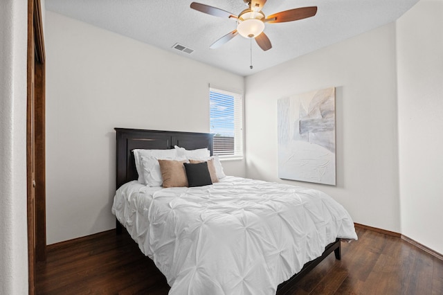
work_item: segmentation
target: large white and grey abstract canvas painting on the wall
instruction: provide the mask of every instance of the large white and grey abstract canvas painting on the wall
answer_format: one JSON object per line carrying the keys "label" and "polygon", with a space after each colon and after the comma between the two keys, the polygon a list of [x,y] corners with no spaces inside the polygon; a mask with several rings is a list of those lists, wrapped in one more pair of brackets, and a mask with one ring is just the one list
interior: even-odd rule
{"label": "large white and grey abstract canvas painting on the wall", "polygon": [[278,177],[336,184],[335,87],[278,100]]}

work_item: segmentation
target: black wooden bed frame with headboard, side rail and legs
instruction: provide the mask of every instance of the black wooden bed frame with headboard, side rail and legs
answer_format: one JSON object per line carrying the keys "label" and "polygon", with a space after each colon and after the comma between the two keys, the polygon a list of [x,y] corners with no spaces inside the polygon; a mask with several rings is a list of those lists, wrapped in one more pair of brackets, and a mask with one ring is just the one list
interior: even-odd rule
{"label": "black wooden bed frame with headboard, side rail and legs", "polygon": [[[172,132],[159,130],[144,130],[144,129],[125,129],[115,128],[117,133],[117,174],[116,174],[116,188],[119,188],[128,181],[138,179],[137,170],[135,167],[134,154],[132,150],[136,148],[141,149],[155,149],[168,150],[174,148],[174,145],[186,148],[186,150],[195,150],[198,148],[208,148],[210,154],[213,154],[213,136],[208,133],[195,132]],[[116,232],[122,233],[123,226],[116,220]],[[335,253],[336,259],[341,259],[340,239],[329,244],[325,248],[322,256],[307,262],[298,274],[289,278],[284,283],[278,286],[277,294],[287,294],[291,286],[298,282],[302,276],[307,274],[311,269],[318,265],[323,259],[329,256],[332,251]]]}

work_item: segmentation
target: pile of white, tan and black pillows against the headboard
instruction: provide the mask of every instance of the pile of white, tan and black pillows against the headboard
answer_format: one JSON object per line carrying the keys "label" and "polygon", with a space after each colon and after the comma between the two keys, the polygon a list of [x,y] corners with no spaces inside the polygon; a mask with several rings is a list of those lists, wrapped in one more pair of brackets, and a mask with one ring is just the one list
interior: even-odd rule
{"label": "pile of white, tan and black pillows against the headboard", "polygon": [[138,182],[147,186],[173,188],[208,186],[226,177],[218,156],[206,148],[186,150],[133,150]]}

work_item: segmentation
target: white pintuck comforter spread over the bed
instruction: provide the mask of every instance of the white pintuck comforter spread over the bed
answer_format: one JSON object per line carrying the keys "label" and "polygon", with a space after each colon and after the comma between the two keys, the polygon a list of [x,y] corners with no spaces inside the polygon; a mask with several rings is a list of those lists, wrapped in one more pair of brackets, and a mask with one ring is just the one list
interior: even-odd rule
{"label": "white pintuck comforter spread over the bed", "polygon": [[350,215],[325,193],[239,177],[199,188],[131,181],[112,212],[170,294],[275,294],[327,244],[357,239]]}

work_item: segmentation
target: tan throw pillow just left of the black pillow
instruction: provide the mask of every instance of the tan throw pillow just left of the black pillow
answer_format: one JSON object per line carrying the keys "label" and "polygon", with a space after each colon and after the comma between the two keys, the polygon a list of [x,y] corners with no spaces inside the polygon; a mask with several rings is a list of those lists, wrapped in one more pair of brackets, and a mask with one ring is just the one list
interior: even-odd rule
{"label": "tan throw pillow just left of the black pillow", "polygon": [[188,178],[183,163],[186,163],[186,161],[159,160],[163,188],[188,186]]}

